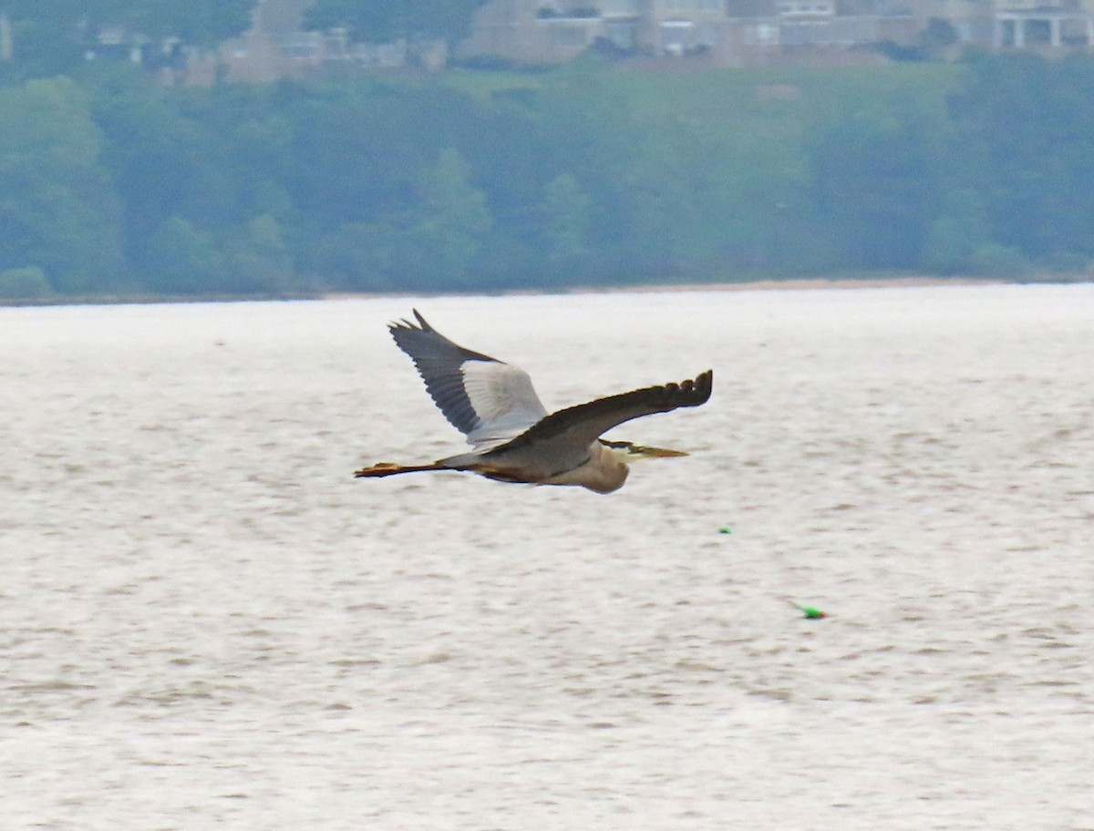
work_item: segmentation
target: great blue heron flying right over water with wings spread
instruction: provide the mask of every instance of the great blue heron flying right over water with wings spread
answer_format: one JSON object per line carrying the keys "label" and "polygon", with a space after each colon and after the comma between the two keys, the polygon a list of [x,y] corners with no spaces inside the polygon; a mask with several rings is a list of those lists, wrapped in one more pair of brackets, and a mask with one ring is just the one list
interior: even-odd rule
{"label": "great blue heron flying right over water with wings spread", "polygon": [[502,482],[578,484],[610,493],[622,487],[628,463],[687,454],[609,442],[601,433],[642,415],[698,407],[710,398],[713,372],[707,370],[695,381],[597,398],[548,415],[524,370],[453,343],[418,309],[414,316],[417,326],[409,320],[391,324],[392,337],[410,355],[441,412],[474,449],[431,465],[383,461],[353,476],[466,470]]}

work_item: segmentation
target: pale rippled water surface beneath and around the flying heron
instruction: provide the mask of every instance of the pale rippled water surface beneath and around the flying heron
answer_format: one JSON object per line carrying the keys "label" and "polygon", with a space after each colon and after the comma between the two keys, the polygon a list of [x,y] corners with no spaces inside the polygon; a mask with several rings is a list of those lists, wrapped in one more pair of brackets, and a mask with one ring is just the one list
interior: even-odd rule
{"label": "pale rippled water surface beneath and around the flying heron", "polygon": [[[412,303],[713,366],[694,455],[353,480],[461,446]],[[0,309],[0,824],[1094,829],[1092,366],[1091,285]]]}

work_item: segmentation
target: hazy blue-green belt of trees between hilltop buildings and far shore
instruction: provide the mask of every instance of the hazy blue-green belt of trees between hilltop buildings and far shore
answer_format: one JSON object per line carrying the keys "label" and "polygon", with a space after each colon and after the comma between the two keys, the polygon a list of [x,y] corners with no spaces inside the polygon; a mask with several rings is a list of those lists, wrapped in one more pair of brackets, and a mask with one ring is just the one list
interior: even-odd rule
{"label": "hazy blue-green belt of trees between hilltop buildings and far shore", "polygon": [[490,291],[1094,258],[1094,60],[0,75],[0,295]]}

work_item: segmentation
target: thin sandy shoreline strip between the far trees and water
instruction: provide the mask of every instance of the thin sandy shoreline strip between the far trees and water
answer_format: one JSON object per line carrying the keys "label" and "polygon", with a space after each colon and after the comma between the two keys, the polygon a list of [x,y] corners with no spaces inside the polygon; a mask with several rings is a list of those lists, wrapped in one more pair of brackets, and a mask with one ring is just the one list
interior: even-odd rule
{"label": "thin sandy shoreline strip between the far trees and water", "polygon": [[539,296],[549,294],[640,294],[657,292],[740,292],[740,291],[816,291],[852,289],[912,289],[940,285],[1079,285],[1094,282],[1094,276],[1060,276],[1058,279],[991,279],[970,277],[929,277],[907,274],[893,277],[808,277],[779,280],[772,278],[734,280],[710,283],[636,283],[631,285],[586,285],[562,289],[497,289],[493,291],[385,291],[385,292],[315,292],[277,295],[90,295],[0,299],[0,308],[21,306],[114,306],[166,305],[188,303],[278,303],[293,301],[364,300],[372,297],[405,296]]}

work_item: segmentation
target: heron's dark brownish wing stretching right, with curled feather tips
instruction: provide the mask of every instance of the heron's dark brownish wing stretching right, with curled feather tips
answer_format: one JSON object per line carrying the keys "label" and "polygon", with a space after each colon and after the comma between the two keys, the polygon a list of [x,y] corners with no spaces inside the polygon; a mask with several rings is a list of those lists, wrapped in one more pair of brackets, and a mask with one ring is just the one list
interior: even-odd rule
{"label": "heron's dark brownish wing stretching right, with curled feather tips", "polygon": [[587,456],[589,446],[617,424],[655,412],[706,403],[710,398],[713,379],[713,371],[707,370],[697,375],[695,381],[644,387],[568,407],[552,412],[513,441],[493,448],[491,453],[520,452],[534,447],[536,455],[554,459],[561,470],[565,465],[580,463]]}

